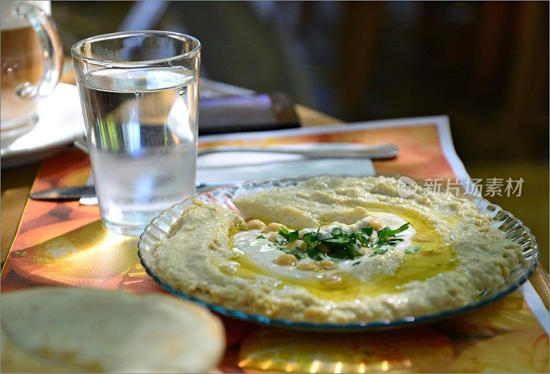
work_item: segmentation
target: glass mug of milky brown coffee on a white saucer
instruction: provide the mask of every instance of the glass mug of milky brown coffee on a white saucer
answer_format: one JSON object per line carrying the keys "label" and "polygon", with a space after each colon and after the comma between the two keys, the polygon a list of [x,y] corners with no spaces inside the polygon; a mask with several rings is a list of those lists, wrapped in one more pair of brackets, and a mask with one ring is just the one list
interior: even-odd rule
{"label": "glass mug of milky brown coffee on a white saucer", "polygon": [[32,130],[39,100],[61,77],[63,45],[50,14],[50,1],[0,1],[2,148]]}

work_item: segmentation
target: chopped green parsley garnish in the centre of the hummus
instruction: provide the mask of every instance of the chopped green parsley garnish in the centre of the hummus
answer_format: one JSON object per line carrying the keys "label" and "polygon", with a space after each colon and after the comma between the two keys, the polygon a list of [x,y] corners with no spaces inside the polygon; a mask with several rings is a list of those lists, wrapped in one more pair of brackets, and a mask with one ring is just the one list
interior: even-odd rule
{"label": "chopped green parsley garnish in the centre of the hummus", "polygon": [[[410,223],[407,222],[395,230],[384,227],[376,231],[374,242],[371,242],[371,235],[375,233],[372,227],[363,227],[360,232],[354,233],[344,233],[340,227],[332,229],[329,235],[322,234],[319,230],[305,233],[302,237],[305,248],[281,248],[290,242],[294,242],[294,240],[300,239],[298,231],[289,231],[285,228],[279,229],[278,234],[281,236],[275,237],[275,240],[280,250],[294,255],[298,259],[309,257],[320,261],[328,257],[335,261],[343,261],[345,259],[356,259],[364,255],[362,247],[371,249],[369,257],[386,253],[389,246],[395,246],[397,243],[403,242],[403,239],[397,237],[397,234],[408,229],[409,225]],[[406,253],[417,253],[419,250],[419,246],[410,246],[406,248]]]}

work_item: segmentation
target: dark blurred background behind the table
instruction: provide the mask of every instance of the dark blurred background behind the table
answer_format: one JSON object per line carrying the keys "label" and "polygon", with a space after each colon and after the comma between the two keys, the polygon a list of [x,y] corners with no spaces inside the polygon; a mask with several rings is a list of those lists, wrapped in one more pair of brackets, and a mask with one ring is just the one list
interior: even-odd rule
{"label": "dark blurred background behind the table", "polygon": [[523,178],[494,196],[549,257],[549,3],[52,1],[65,45],[122,30],[203,44],[203,77],[343,121],[445,114],[472,178]]}

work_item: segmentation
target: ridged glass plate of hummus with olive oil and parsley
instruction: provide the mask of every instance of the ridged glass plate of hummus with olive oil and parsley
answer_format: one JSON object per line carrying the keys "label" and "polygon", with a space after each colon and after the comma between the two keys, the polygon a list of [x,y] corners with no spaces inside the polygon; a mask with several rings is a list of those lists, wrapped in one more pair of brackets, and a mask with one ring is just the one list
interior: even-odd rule
{"label": "ridged glass plate of hummus with olive oil and parsley", "polygon": [[138,253],[162,287],[214,312],[325,331],[453,316],[533,272],[536,239],[513,215],[400,183],[271,178],[203,192],[155,218]]}

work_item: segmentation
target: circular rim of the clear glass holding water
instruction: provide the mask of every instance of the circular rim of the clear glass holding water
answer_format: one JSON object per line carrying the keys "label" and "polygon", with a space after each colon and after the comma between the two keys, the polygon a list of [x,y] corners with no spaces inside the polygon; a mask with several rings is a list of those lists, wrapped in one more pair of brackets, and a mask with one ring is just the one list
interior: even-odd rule
{"label": "circular rim of the clear glass holding water", "polygon": [[[150,34],[150,35],[160,35],[160,36],[175,36],[177,38],[183,38],[185,40],[191,41],[195,43],[195,47],[191,49],[188,52],[185,52],[184,54],[179,54],[176,56],[170,56],[167,58],[159,58],[156,60],[137,60],[137,61],[111,61],[111,60],[101,60],[99,58],[93,58],[93,57],[87,57],[80,53],[78,53],[77,48],[81,47],[82,45],[85,45],[86,43],[90,42],[96,42],[100,40],[108,40],[108,39],[118,39],[123,38],[126,36],[137,36],[142,34]],[[183,41],[183,40],[182,40]],[[124,32],[111,32],[109,34],[100,34],[96,36],[90,36],[89,38],[85,38],[83,40],[80,40],[71,47],[71,55],[73,58],[76,58],[78,60],[82,60],[94,65],[103,65],[109,67],[131,67],[135,65],[154,65],[162,62],[169,62],[172,60],[179,60],[181,58],[190,58],[192,56],[195,56],[199,53],[201,50],[201,42],[199,39],[195,38],[194,36],[190,36],[187,34],[181,34],[180,32],[172,32],[172,31],[159,31],[159,30],[135,30],[135,31],[124,31]]]}

